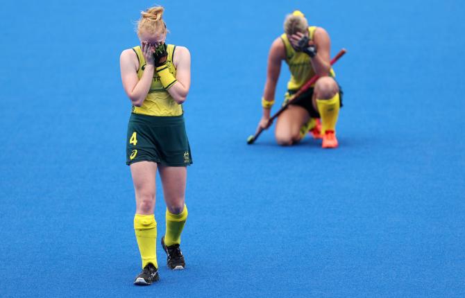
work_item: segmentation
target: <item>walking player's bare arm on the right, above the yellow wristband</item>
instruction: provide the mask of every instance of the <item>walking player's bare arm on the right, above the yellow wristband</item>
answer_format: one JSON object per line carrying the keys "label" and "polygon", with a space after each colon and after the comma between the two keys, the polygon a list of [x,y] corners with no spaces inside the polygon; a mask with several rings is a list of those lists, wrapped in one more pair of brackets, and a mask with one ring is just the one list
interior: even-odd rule
{"label": "walking player's bare arm on the right, above the yellow wristband", "polygon": [[178,81],[167,91],[176,103],[181,104],[186,100],[191,84],[191,54],[184,46],[176,46],[173,60]]}

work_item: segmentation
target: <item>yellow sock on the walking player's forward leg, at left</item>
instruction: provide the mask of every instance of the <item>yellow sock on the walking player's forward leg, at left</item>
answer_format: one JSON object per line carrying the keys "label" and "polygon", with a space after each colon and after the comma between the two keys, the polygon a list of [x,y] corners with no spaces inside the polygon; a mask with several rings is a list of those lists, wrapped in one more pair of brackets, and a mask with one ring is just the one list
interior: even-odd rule
{"label": "yellow sock on the walking player's forward leg, at left", "polygon": [[152,263],[158,268],[157,263],[157,222],[152,215],[136,214],[134,216],[134,230],[137,245],[142,258],[142,268]]}

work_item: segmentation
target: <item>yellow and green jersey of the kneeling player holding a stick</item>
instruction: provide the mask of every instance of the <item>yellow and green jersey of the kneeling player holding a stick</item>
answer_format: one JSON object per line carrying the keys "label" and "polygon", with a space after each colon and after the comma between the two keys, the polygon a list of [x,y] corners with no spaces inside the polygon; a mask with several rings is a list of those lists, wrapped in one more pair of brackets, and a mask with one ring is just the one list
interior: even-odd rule
{"label": "yellow and green jersey of the kneeling player holding a stick", "polygon": [[[313,40],[313,36],[316,30],[316,26],[308,27],[308,35],[310,40]],[[289,42],[287,35],[283,33],[281,40],[284,42],[286,49],[286,63],[289,66],[291,72],[291,78],[287,82],[287,89],[298,90],[305,82],[310,80],[314,75],[315,71],[310,61],[310,56],[303,52],[296,52]],[[330,76],[335,77],[335,72],[331,69]]]}

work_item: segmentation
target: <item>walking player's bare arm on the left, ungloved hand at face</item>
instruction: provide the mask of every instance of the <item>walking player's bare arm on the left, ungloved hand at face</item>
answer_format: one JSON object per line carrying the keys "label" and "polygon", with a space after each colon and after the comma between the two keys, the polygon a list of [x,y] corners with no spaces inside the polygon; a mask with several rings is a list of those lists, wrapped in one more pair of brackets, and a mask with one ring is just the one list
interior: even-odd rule
{"label": "walking player's bare arm on the left, ungloved hand at face", "polygon": [[[119,58],[124,91],[128,95],[131,103],[136,107],[140,107],[147,97],[147,94],[149,94],[153,79],[153,71],[155,71],[153,57],[152,54],[149,53],[149,47],[142,44],[142,53],[144,53],[144,58],[146,59],[146,67],[140,80],[137,78],[137,67],[139,62],[137,61],[137,56],[134,51],[132,49],[124,50]],[[147,60],[147,58],[149,58],[149,60]]]}

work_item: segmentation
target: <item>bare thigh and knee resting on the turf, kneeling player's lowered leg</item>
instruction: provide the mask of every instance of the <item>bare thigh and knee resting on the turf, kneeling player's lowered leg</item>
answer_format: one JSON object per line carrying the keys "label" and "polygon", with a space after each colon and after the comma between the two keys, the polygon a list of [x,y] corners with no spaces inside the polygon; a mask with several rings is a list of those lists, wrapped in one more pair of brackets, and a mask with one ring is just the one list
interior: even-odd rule
{"label": "bare thigh and knee resting on the turf, kneeling player's lowered leg", "polygon": [[309,120],[307,110],[298,105],[289,105],[276,121],[275,137],[278,144],[289,146],[300,141],[302,125]]}

